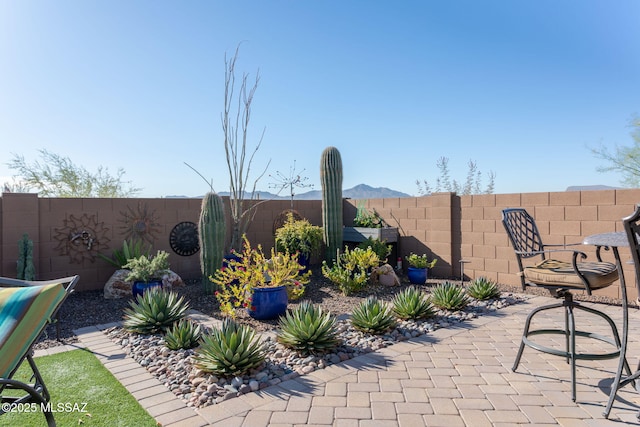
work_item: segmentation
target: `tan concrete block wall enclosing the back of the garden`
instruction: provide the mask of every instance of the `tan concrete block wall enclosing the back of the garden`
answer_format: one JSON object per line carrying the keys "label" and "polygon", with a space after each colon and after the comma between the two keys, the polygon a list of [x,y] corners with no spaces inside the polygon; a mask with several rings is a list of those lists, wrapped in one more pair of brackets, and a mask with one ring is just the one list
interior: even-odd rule
{"label": "tan concrete block wall enclosing the back of the garden", "polygon": [[[227,237],[230,239],[229,200]],[[269,251],[274,244],[274,220],[291,207],[290,200],[259,202],[247,237],[252,245]],[[358,203],[375,209],[398,227],[398,256],[410,252],[438,258],[432,277],[459,280],[461,261],[466,279],[484,276],[506,285],[519,286],[517,262],[501,223],[501,211],[523,207],[536,219],[545,243],[575,243],[590,234],[623,231],[622,218],[640,203],[640,189],[430,196],[369,200],[344,199],[344,225],[353,225]],[[201,199],[74,199],[40,198],[36,194],[3,193],[0,198],[0,275],[15,277],[18,241],[24,233],[34,242],[37,278],[54,279],[80,275],[77,289],[102,289],[114,269],[98,258],[110,255],[132,233],[146,230],[153,252],[170,254],[171,269],[183,279],[200,276],[198,254],[180,256],[170,246],[171,230],[181,222],[198,222]],[[293,208],[312,224],[322,225],[322,201],[295,200]],[[90,235],[83,235],[87,231]],[[71,239],[75,240],[71,242]],[[91,240],[93,239],[93,240]],[[590,258],[595,248],[583,248]],[[620,250],[623,262],[628,249]],[[610,256],[605,254],[605,256]],[[318,264],[320,259],[312,259]],[[395,261],[390,260],[394,265]],[[404,262],[406,269],[406,261]],[[630,298],[636,298],[633,266],[625,263]],[[599,295],[618,298],[611,286]]]}

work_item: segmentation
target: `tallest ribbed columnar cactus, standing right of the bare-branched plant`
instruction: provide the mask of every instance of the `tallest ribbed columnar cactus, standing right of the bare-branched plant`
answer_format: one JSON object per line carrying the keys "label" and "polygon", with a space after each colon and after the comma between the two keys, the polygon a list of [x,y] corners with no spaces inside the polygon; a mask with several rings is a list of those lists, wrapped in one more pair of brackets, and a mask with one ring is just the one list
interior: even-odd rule
{"label": "tallest ribbed columnar cactus, standing right of the bare-branched plant", "polygon": [[325,259],[333,264],[342,246],[342,159],[336,147],[327,147],[322,152],[320,182]]}

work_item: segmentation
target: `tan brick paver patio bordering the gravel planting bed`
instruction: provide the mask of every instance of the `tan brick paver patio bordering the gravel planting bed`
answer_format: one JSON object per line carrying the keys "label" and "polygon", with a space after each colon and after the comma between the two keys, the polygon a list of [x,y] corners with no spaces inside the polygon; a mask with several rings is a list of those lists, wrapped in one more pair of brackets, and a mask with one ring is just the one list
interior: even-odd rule
{"label": "tan brick paver patio bordering the gravel planting bed", "polygon": [[[197,410],[187,407],[111,343],[100,330],[112,325],[77,332],[82,345],[166,427],[638,425],[640,395],[631,386],[618,393],[609,420],[602,416],[617,359],[578,362],[575,403],[564,359],[527,348],[518,371],[511,371],[527,313],[548,302],[546,297],[532,298]],[[598,308],[621,328],[620,307]],[[555,318],[547,317],[555,323]],[[561,315],[556,317],[562,320]],[[603,333],[608,327],[587,322],[588,318],[579,317],[577,324]],[[630,331],[628,360],[633,369],[640,354],[640,311],[633,308]]]}

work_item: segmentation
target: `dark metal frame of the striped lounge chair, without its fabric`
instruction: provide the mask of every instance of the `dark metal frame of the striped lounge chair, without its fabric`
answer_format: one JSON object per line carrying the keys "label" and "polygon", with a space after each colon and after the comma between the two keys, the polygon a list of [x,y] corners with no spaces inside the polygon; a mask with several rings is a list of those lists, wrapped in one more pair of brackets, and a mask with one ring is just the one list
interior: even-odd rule
{"label": "dark metal frame of the striped lounge chair, without its fabric", "polygon": [[[56,280],[26,281],[26,280],[12,279],[8,277],[0,277],[0,287],[6,288],[6,287],[44,286],[44,285],[62,283],[65,289],[65,297],[58,304],[57,309],[51,315],[51,319],[54,319],[54,318],[57,319],[57,314],[58,314],[58,311],[60,310],[60,307],[62,306],[66,298],[74,291],[74,288],[78,283],[79,279],[80,279],[79,276],[70,276],[70,277],[65,277],[65,278],[56,279]],[[33,350],[32,350],[33,344],[35,343],[35,341],[37,341],[37,337],[40,337],[42,333],[45,331],[45,329],[47,328],[47,326],[49,326],[50,324],[51,323],[45,323],[42,329],[38,331],[37,335],[35,335],[36,339],[34,340],[34,342],[31,343],[31,346],[26,351],[26,353],[22,356],[21,361],[13,369],[13,371],[8,376],[8,378],[0,378],[0,402],[3,404],[9,403],[13,405],[35,403],[39,405],[41,409],[47,408],[47,410],[42,411],[47,421],[47,426],[55,427],[56,422],[53,417],[53,413],[51,412],[50,407],[47,405],[47,403],[51,399],[51,395],[49,394],[49,390],[47,389],[47,386],[45,385],[44,380],[42,379],[42,375],[40,374],[40,371],[38,370],[38,367],[36,366],[35,361],[33,360]],[[32,376],[31,376],[32,383],[30,384],[24,383],[22,381],[14,380],[12,378],[15,375],[15,373],[18,371],[18,368],[22,365],[22,363],[25,360],[29,364],[29,368],[32,371]],[[20,391],[23,391],[25,394],[20,396],[3,396],[3,392],[5,390],[20,390]],[[0,410],[0,415],[4,413],[5,411],[4,411],[4,405],[3,405],[3,409]]]}

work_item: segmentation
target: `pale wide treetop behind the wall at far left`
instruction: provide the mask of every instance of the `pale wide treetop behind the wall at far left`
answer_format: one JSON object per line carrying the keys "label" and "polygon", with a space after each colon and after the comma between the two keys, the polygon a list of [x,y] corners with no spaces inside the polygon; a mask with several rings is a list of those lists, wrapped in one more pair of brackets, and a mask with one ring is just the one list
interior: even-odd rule
{"label": "pale wide treetop behind the wall at far left", "polygon": [[7,163],[18,172],[14,178],[21,190],[34,190],[44,197],[130,197],[140,191],[123,181],[123,169],[118,169],[115,176],[102,166],[97,172],[89,172],[68,157],[44,149],[39,152],[42,162],[28,163],[24,156],[14,154]]}

